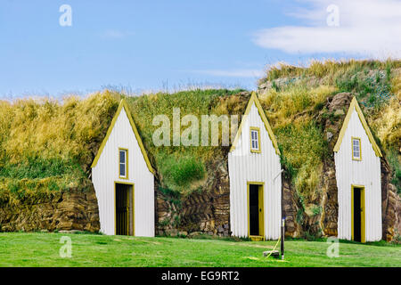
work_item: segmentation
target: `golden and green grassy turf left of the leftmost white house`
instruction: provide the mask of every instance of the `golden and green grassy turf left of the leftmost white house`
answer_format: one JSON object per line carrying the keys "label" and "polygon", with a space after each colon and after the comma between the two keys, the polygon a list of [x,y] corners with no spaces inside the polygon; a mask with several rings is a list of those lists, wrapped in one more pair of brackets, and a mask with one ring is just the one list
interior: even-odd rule
{"label": "golden and green grassy turf left of the leftmost white house", "polygon": [[0,101],[0,201],[86,190],[89,166],[117,110],[108,92],[81,100]]}

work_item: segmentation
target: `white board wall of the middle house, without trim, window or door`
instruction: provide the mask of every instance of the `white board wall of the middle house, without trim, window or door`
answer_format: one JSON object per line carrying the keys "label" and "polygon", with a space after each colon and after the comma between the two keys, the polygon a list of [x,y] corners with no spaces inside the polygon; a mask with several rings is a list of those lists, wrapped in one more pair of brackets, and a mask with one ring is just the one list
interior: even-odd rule
{"label": "white board wall of the middle house, without trim, window or door", "polygon": [[[247,182],[264,182],[265,235],[267,240],[276,240],[280,236],[282,217],[280,157],[275,153],[255,103],[244,119],[237,146],[228,153],[231,231],[234,236],[248,236]],[[250,126],[260,128],[261,153],[250,152]]]}

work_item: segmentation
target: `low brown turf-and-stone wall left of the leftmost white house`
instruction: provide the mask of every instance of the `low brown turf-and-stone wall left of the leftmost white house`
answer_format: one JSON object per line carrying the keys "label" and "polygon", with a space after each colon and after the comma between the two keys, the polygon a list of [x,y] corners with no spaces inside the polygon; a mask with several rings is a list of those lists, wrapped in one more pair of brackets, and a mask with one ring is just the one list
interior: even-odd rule
{"label": "low brown turf-and-stone wall left of the leftmost white house", "polygon": [[54,191],[38,201],[22,201],[18,206],[0,205],[1,232],[78,230],[98,232],[99,211],[94,188],[80,192]]}

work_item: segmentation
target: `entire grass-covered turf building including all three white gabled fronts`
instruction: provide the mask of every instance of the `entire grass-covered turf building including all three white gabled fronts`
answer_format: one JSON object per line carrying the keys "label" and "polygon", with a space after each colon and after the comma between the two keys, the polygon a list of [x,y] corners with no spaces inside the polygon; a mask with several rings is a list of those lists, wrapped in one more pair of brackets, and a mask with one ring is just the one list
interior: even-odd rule
{"label": "entire grass-covered turf building including all three white gabled fronts", "polygon": [[[400,70],[315,61],[269,69],[256,94],[0,101],[0,231],[274,240],[285,216],[290,237],[398,239]],[[187,115],[240,119],[229,144],[195,147],[155,145],[158,115],[182,136]]]}

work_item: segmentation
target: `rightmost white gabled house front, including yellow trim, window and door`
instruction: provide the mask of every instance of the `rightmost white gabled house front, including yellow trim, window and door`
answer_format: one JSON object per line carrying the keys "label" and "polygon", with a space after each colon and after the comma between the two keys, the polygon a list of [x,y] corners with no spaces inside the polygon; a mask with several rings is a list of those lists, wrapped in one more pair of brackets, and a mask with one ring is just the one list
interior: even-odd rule
{"label": "rightmost white gabled house front, including yellow trim, window and door", "polygon": [[355,97],[334,152],[340,238],[363,242],[381,240],[382,154]]}

